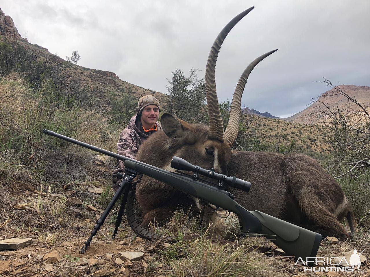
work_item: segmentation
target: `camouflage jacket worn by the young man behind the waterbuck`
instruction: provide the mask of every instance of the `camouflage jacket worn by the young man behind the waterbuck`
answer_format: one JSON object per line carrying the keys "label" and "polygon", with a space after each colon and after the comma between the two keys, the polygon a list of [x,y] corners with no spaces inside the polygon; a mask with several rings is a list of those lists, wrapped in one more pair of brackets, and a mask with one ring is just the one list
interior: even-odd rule
{"label": "camouflage jacket worn by the young man behind the waterbuck", "polygon": [[[120,138],[117,143],[117,153],[135,159],[137,151],[141,144],[149,137],[150,134],[144,134],[141,131],[139,120],[136,120],[136,114],[131,117],[127,127],[122,131],[120,134]],[[158,130],[161,130],[161,123],[157,122]],[[155,132],[155,131],[154,131]],[[123,165],[123,161],[117,160],[116,169],[113,171],[113,188],[116,189],[119,185],[119,179],[117,178],[118,172],[123,172],[125,166]]]}

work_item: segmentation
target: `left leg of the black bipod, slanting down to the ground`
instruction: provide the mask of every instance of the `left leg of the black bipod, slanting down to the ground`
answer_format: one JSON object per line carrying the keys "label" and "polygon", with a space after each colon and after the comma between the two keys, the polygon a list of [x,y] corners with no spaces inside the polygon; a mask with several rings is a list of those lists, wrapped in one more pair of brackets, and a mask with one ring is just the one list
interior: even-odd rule
{"label": "left leg of the black bipod, slanting down to the ground", "polygon": [[126,175],[126,174],[124,174],[123,177],[124,178],[123,178],[120,186],[118,187],[117,191],[115,192],[115,194],[114,194],[111,202],[109,202],[107,208],[105,208],[105,211],[100,216],[100,218],[97,220],[97,222],[96,222],[96,224],[94,226],[94,229],[92,229],[92,231],[91,231],[90,237],[87,239],[87,241],[84,242],[84,246],[81,247],[80,254],[84,254],[86,252],[87,248],[90,246],[92,237],[95,236],[95,234],[98,232],[98,230],[100,229],[100,227],[103,225],[105,219],[108,216],[108,213],[113,208],[114,203],[117,201],[118,198],[120,198],[123,189],[125,189],[127,186],[131,186],[133,178],[131,176],[129,176],[129,175]]}

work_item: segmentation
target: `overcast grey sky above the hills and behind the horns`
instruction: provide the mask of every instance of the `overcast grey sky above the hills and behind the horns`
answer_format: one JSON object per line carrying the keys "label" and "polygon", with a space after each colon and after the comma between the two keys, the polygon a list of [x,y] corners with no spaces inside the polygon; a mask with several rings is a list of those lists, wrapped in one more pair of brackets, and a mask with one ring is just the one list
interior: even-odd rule
{"label": "overcast grey sky above the hills and behind the horns", "polygon": [[287,117],[333,83],[370,86],[370,1],[45,1],[5,0],[22,37],[79,65],[166,92],[176,68],[205,74],[209,50],[234,16],[255,6],[229,33],[216,66],[219,99],[231,99],[245,67],[279,51],[251,73],[242,104]]}

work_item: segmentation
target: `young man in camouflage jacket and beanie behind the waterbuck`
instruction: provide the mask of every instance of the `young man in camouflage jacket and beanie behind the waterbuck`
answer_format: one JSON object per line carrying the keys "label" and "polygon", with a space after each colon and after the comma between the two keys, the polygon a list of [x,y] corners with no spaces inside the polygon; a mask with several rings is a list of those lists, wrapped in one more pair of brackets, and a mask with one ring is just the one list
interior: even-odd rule
{"label": "young man in camouflage jacket and beanie behind the waterbuck", "polygon": [[[117,153],[135,159],[137,151],[142,143],[153,133],[161,130],[159,118],[159,102],[152,95],[145,95],[139,99],[138,112],[131,117],[126,129],[120,135],[117,143]],[[123,172],[123,161],[117,160],[116,169],[113,171],[113,189],[117,189],[120,181],[118,172]]]}

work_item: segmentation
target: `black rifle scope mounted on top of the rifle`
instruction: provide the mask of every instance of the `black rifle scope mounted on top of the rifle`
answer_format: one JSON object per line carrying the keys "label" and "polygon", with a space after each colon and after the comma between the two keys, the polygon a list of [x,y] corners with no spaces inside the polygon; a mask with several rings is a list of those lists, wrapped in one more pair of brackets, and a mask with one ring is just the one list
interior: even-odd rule
{"label": "black rifle scope mounted on top of the rifle", "polygon": [[249,192],[252,183],[236,178],[235,176],[226,176],[209,169],[199,167],[198,165],[192,165],[188,161],[182,158],[174,156],[171,161],[171,167],[177,170],[193,171],[198,174],[204,175],[208,178],[216,179],[221,182],[225,182],[227,185],[233,188],[241,189],[242,191]]}

